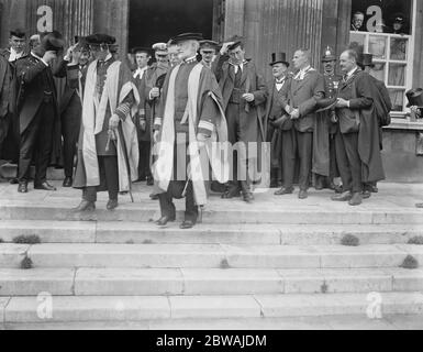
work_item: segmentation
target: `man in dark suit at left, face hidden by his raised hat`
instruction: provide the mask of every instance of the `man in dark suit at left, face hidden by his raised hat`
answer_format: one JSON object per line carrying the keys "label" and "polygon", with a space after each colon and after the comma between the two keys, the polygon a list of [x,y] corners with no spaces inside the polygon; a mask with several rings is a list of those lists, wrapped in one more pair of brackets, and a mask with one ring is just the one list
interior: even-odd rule
{"label": "man in dark suit at left, face hidden by his raised hat", "polygon": [[[42,37],[30,55],[16,61],[19,94],[16,112],[20,123],[19,193],[27,193],[31,163],[35,161],[34,188],[56,190],[47,183],[47,167],[52,155],[58,155],[62,145],[56,86],[53,77],[66,76],[63,55],[64,40],[52,32]],[[53,66],[53,62],[57,61]]]}

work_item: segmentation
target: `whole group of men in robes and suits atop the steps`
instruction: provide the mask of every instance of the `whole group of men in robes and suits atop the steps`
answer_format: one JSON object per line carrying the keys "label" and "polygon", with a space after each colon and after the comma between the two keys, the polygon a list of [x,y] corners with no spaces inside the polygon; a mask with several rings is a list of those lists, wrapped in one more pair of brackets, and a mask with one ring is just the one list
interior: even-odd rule
{"label": "whole group of men in robes and suits atop the steps", "polygon": [[[266,185],[266,169],[271,187],[280,187],[277,196],[292,194],[298,184],[298,197],[305,199],[314,184],[350,206],[385,178],[380,129],[389,97],[375,94],[383,91],[382,84],[353,50],[341,55],[342,76],[330,47],[323,74],[311,66],[308,50],[296,51],[293,73],[286,54],[275,53],[274,79],[265,82],[238,36],[219,45],[183,33],[152,48],[135,47],[132,72],[116,58],[115,45],[114,37],[93,34],[65,51],[62,35],[53,32],[27,55],[11,51],[14,61],[4,65],[10,77],[2,84],[15,80],[16,102],[2,107],[14,117],[8,121],[19,121],[20,193],[27,191],[32,162],[35,188],[55,189],[46,169],[62,155],[60,130],[64,186],[82,189],[75,211],[92,211],[99,190],[109,193],[107,209],[113,210],[120,193],[145,180],[159,200],[158,226],[175,221],[172,199],[185,197],[180,227],[192,228],[216,186],[222,198],[253,202],[254,187]],[[60,95],[54,76],[65,77]],[[11,101],[3,96],[1,101]],[[236,150],[231,157],[221,153],[227,145]],[[209,176],[211,185],[204,182]]]}

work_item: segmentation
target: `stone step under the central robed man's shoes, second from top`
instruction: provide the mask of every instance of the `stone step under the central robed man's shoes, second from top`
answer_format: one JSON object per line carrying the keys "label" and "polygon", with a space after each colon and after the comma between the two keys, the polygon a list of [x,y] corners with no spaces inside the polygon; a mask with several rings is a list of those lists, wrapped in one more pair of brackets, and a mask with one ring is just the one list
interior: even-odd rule
{"label": "stone step under the central robed man's shoes, second from top", "polygon": [[179,223],[158,228],[153,223],[119,221],[3,220],[0,239],[36,234],[42,243],[149,243],[149,244],[339,244],[345,234],[360,244],[407,243],[423,234],[422,226],[298,226],[298,224],[198,224],[180,230]]}

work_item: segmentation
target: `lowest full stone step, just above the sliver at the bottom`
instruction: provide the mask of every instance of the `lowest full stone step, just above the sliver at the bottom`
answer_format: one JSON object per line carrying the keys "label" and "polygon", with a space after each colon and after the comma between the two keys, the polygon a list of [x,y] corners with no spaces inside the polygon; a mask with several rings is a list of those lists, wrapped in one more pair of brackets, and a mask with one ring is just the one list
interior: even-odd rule
{"label": "lowest full stone step, just above the sliver at the bottom", "polygon": [[[376,298],[376,301],[375,301]],[[376,302],[376,305],[375,305]],[[241,296],[57,296],[0,299],[0,321],[168,322],[174,319],[258,319],[361,315],[422,315],[423,294],[381,293]]]}

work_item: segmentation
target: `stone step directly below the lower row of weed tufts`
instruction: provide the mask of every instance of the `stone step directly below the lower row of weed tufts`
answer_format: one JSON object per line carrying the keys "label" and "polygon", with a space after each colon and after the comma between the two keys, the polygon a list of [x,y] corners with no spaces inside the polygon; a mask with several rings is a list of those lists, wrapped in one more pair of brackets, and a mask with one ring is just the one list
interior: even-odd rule
{"label": "stone step directly below the lower row of weed tufts", "polygon": [[0,270],[0,296],[180,296],[423,292],[423,270]]}

